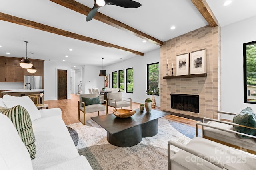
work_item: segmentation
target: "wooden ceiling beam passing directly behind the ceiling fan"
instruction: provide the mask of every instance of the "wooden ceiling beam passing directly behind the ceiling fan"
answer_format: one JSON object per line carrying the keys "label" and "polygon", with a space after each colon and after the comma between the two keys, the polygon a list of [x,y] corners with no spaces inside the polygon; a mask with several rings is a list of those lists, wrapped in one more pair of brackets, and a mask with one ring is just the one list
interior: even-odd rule
{"label": "wooden ceiling beam passing directly behind the ceiling fan", "polygon": [[[88,13],[90,12],[91,8],[89,8],[88,6],[85,6],[83,4],[80,4],[79,2],[76,2],[74,0],[50,0],[52,2],[55,2],[56,4],[59,4],[61,6],[64,6],[66,8],[69,8],[71,10],[74,10],[76,12],[79,12],[81,14],[84,15],[88,15]],[[106,23],[108,25],[111,25],[113,27],[116,27],[118,29],[121,29],[123,31],[132,33],[133,35],[140,37],[142,39],[145,39],[151,43],[154,43],[156,45],[163,45],[164,43],[154,37],[151,37],[150,35],[147,35],[137,29],[134,29],[132,27],[130,27],[129,25],[126,25],[122,22],[119,22],[113,18],[110,18],[100,12],[97,12],[96,15],[94,16],[95,20],[101,21],[103,23]],[[84,18],[84,22],[86,22],[85,18]]]}

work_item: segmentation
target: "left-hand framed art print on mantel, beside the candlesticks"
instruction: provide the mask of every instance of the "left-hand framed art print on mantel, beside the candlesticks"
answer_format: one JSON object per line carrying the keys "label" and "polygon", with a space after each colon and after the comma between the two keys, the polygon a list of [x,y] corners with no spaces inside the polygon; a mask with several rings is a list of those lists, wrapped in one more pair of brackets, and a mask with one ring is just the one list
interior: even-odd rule
{"label": "left-hand framed art print on mantel, beside the candlesticks", "polygon": [[189,53],[177,55],[176,57],[176,76],[188,75]]}

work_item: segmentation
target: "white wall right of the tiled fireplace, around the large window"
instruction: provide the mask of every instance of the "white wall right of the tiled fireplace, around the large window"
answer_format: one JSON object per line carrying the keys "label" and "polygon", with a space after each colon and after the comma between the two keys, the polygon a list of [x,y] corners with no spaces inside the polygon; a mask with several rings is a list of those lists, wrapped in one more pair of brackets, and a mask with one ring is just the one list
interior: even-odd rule
{"label": "white wall right of the tiled fireplace, around the large window", "polygon": [[[238,113],[256,104],[244,103],[243,43],[256,41],[256,16],[222,27],[221,106],[222,111]],[[224,119],[230,119],[222,115]]]}

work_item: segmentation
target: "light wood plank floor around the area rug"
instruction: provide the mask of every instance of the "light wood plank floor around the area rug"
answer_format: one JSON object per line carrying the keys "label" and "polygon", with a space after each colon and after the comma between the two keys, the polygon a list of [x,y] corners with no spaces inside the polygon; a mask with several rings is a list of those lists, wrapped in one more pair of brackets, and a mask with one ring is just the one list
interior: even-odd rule
{"label": "light wood plank floor around the area rug", "polygon": [[[71,94],[71,99],[61,99],[61,100],[48,100],[44,101],[45,104],[48,104],[48,108],[60,108],[62,110],[62,119],[65,122],[66,125],[72,124],[72,123],[78,123],[78,100],[79,96],[76,94]],[[139,108],[139,103],[132,102],[132,109],[137,109]],[[130,107],[124,107],[130,109]],[[154,108],[156,110],[160,110],[160,107]],[[108,107],[108,113],[113,113],[113,107]],[[100,111],[100,115],[105,115],[105,111]],[[98,112],[94,113],[87,113],[86,115],[86,120],[90,120],[91,117],[98,116]],[[196,122],[195,120],[192,119],[186,119],[183,117],[178,117],[174,115],[168,115],[165,116],[164,118],[171,120],[171,121],[176,121],[178,123],[182,123],[185,125],[189,125],[192,127],[196,127]],[[83,114],[80,112],[80,120],[83,120]]]}

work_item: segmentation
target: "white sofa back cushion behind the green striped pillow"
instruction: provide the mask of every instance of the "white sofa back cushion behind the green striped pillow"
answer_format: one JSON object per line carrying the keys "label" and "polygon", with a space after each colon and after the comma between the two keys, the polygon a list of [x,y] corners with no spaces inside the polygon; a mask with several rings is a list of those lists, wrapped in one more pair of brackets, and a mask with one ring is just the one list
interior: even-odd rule
{"label": "white sofa back cushion behind the green striped pillow", "polygon": [[34,102],[28,96],[10,96],[8,94],[3,96],[4,104],[8,108],[12,108],[16,105],[24,107],[30,115],[31,121],[41,118],[41,114],[36,108]]}

